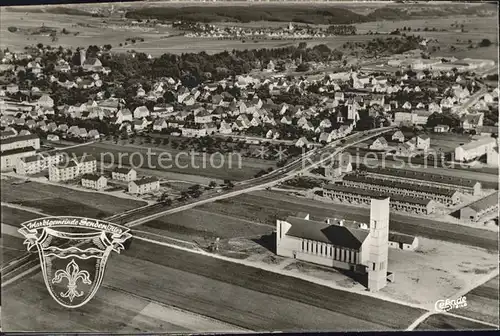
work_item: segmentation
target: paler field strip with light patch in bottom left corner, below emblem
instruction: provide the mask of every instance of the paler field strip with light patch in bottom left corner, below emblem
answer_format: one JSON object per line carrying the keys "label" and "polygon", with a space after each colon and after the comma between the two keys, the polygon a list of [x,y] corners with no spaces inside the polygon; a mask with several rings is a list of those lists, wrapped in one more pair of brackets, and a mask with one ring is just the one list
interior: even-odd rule
{"label": "paler field strip with light patch in bottom left corner, below emblem", "polygon": [[[26,287],[24,287],[26,286]],[[113,331],[113,332],[165,332],[236,331],[238,328],[208,320],[192,313],[172,311],[147,299],[124,293],[106,285],[101,286],[88,305],[74,310],[59,306],[48,297],[41,274],[24,280],[17,288],[4,291],[3,328],[8,331]],[[29,288],[31,295],[19,289]],[[9,298],[15,297],[15,300]],[[33,307],[39,312],[35,316]],[[16,315],[10,314],[16,312]]]}

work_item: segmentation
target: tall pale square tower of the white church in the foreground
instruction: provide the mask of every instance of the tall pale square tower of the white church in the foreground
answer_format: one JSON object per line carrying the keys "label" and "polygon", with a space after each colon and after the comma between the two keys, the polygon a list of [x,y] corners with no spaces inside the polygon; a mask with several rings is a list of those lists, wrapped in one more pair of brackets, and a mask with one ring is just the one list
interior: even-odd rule
{"label": "tall pale square tower of the white church in the foreground", "polygon": [[368,290],[372,292],[379,291],[387,284],[389,203],[389,197],[372,198],[370,205]]}

